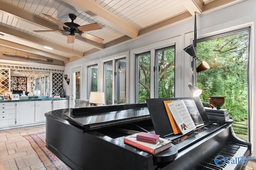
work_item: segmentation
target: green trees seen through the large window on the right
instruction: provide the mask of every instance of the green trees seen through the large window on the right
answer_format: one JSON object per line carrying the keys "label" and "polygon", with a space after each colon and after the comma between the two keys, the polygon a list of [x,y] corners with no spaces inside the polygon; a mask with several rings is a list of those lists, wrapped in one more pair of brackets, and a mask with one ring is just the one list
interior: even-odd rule
{"label": "green trees seen through the large window on the right", "polygon": [[[234,121],[244,121],[247,113],[247,53],[248,32],[199,42],[197,54],[210,69],[197,73],[197,87],[203,90],[201,99],[225,96],[222,108],[228,109]],[[216,57],[216,60],[215,60]]]}

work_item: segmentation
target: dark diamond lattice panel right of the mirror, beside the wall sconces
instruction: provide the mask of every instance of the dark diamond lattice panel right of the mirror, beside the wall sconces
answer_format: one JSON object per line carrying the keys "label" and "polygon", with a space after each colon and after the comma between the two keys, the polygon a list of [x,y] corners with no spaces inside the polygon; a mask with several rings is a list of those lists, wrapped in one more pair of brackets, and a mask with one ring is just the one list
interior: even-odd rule
{"label": "dark diamond lattice panel right of the mirror, beside the wall sconces", "polygon": [[52,73],[52,95],[60,94],[63,87],[63,73]]}

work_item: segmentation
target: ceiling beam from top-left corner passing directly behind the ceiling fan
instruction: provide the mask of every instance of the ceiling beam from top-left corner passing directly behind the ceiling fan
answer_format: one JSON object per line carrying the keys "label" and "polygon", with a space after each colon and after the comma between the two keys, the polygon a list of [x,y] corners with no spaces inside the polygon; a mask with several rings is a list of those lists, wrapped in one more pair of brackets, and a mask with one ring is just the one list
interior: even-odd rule
{"label": "ceiling beam from top-left corner passing directly behind the ceiling fan", "polygon": [[[35,15],[35,14],[28,12],[26,10],[23,10],[21,8],[18,8],[17,6],[14,6],[14,5],[4,2],[2,0],[0,0],[0,10],[5,14],[8,14],[8,15],[12,14],[12,15],[14,15],[15,18],[18,18],[19,20],[28,22],[28,23],[36,25],[36,26],[40,26],[40,27],[44,26],[44,27],[50,28],[52,30],[63,30],[63,28],[61,26],[59,26],[58,24],[56,24],[55,22],[52,22],[45,18],[42,18],[38,15]],[[56,34],[62,34],[62,33],[56,32]],[[89,43],[97,49],[104,49],[104,44],[102,44],[102,43],[94,42],[87,38],[83,38],[82,36],[76,36],[76,39],[81,40],[86,43]],[[71,51],[72,51],[72,49],[71,49]]]}

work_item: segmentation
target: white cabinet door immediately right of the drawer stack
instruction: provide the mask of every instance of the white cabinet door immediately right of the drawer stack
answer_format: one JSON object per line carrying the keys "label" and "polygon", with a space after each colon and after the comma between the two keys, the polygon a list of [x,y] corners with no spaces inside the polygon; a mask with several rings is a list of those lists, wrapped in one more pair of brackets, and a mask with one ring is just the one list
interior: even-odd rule
{"label": "white cabinet door immediately right of the drawer stack", "polygon": [[35,102],[23,101],[16,103],[16,125],[33,123],[35,119]]}

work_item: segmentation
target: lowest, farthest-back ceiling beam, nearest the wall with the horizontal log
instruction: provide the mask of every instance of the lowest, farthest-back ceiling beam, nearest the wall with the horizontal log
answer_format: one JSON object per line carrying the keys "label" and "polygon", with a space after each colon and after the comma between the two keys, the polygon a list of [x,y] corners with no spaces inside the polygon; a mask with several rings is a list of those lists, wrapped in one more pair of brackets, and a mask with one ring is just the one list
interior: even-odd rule
{"label": "lowest, farthest-back ceiling beam, nearest the wall with the horizontal log", "polygon": [[19,49],[21,51],[26,51],[26,52],[33,53],[33,54],[36,54],[36,55],[48,57],[48,58],[51,58],[51,59],[56,59],[56,60],[59,60],[59,61],[64,61],[64,62],[69,61],[68,57],[63,57],[61,55],[56,55],[54,53],[42,51],[42,50],[39,50],[39,49],[36,49],[36,48],[28,47],[26,45],[10,42],[10,41],[3,40],[3,39],[0,39],[0,45],[10,47],[10,48],[14,48],[14,49]]}

